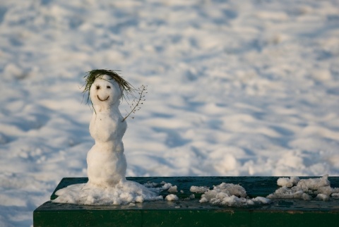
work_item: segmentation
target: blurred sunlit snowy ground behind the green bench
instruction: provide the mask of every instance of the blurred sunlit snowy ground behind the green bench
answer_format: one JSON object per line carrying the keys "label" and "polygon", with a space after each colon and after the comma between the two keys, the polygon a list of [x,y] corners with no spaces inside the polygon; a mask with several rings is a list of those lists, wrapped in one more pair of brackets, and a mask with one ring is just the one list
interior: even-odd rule
{"label": "blurred sunlit snowy ground behind the green bench", "polygon": [[338,37],[335,0],[1,1],[0,226],[86,176],[94,68],[148,85],[128,176],[339,176]]}

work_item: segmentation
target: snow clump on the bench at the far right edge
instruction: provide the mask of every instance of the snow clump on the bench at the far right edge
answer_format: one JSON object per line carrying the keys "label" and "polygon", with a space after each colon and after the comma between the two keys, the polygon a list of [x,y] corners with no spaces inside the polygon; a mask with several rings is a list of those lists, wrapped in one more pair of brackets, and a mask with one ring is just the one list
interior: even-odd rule
{"label": "snow clump on the bench at the far right edge", "polygon": [[[284,182],[284,183],[283,183]],[[287,183],[286,183],[287,182]],[[322,178],[302,179],[291,177],[279,178],[278,185],[283,186],[278,188],[272,194],[268,195],[269,199],[303,199],[303,200],[328,200],[330,196],[337,197],[339,188],[331,188],[331,182],[328,180],[328,175]],[[314,197],[315,195],[315,197]]]}

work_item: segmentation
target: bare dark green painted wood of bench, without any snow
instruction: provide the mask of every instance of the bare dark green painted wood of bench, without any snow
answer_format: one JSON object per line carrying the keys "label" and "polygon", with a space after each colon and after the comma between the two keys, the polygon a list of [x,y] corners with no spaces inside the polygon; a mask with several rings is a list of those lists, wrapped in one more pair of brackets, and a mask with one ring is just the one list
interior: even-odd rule
{"label": "bare dark green painted wood of bench, without any snow", "polygon": [[[307,177],[309,178],[309,177]],[[138,183],[177,185],[179,201],[153,201],[136,206],[85,206],[45,202],[33,212],[34,226],[338,226],[339,200],[304,201],[273,200],[256,207],[221,207],[188,200],[191,185],[209,186],[222,182],[242,185],[249,197],[274,192],[278,177],[148,177],[127,178]],[[332,188],[339,188],[339,177],[328,178]],[[51,195],[60,188],[86,183],[88,178],[64,178]],[[162,192],[167,195],[167,192]]]}

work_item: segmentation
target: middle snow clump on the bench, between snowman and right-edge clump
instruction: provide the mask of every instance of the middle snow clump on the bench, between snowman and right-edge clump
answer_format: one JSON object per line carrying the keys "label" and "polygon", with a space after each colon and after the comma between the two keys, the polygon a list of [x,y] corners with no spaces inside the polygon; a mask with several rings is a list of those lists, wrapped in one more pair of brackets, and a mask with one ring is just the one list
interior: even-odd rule
{"label": "middle snow clump on the bench, between snowman and right-edge clump", "polygon": [[221,183],[214,186],[213,190],[207,190],[201,195],[199,202],[210,202],[211,204],[229,207],[243,207],[254,204],[268,204],[270,200],[264,197],[248,199],[246,198],[246,190],[242,186],[232,183]]}

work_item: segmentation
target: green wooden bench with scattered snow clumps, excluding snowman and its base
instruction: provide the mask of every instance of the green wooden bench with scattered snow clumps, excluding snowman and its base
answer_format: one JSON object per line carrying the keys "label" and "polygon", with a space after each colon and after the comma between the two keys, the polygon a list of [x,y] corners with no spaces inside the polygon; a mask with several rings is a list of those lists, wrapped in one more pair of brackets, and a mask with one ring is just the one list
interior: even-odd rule
{"label": "green wooden bench with scattered snow clumps, excluding snowman and its base", "polygon": [[133,177],[127,180],[144,185],[163,199],[138,202],[124,200],[124,195],[120,195],[120,204],[58,203],[55,202],[58,190],[88,181],[88,178],[63,178],[51,201],[35,209],[34,226],[336,226],[339,223],[336,188],[339,177]]}

